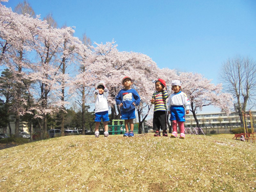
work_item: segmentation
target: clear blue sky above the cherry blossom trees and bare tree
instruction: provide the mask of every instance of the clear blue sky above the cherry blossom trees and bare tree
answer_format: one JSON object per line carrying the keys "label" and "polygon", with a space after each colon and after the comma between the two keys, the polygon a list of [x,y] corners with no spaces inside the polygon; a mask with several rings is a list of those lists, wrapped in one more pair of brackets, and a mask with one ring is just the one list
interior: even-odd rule
{"label": "clear blue sky above the cherry blossom trees and bare tree", "polygon": [[[3,3],[14,7],[23,1]],[[41,18],[52,13],[75,36],[114,39],[119,51],[150,56],[160,68],[197,72],[220,83],[221,65],[236,55],[256,60],[254,0],[28,0]]]}

